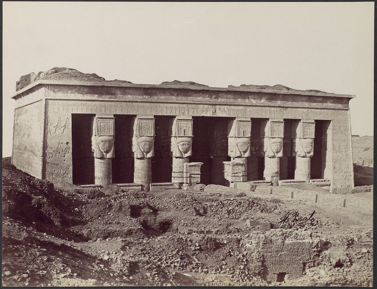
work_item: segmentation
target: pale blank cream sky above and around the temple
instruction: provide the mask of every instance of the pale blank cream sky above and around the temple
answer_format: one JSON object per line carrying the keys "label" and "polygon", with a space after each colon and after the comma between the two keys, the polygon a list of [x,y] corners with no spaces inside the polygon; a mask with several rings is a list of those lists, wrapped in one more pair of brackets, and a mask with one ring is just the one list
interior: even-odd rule
{"label": "pale blank cream sky above and around the temple", "polygon": [[3,2],[3,157],[16,81],[53,67],[136,84],[282,84],[355,94],[373,135],[374,2]]}

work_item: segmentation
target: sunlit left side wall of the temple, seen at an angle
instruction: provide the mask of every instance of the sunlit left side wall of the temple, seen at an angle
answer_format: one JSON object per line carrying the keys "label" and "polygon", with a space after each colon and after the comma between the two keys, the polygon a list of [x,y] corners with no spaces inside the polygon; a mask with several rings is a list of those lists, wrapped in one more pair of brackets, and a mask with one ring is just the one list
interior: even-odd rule
{"label": "sunlit left side wall of the temple, seen at an angle", "polygon": [[[38,94],[35,91],[28,99],[18,102],[14,111],[12,164],[36,178],[42,178],[44,106]],[[33,97],[37,101],[30,103]]]}

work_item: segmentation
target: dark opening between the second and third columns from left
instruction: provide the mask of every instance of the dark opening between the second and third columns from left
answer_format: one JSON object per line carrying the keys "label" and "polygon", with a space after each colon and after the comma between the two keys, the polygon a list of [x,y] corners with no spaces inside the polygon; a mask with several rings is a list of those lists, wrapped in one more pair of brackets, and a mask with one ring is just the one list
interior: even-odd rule
{"label": "dark opening between the second and third columns from left", "polygon": [[172,116],[155,116],[155,156],[152,158],[152,183],[172,181],[173,157],[171,152]]}

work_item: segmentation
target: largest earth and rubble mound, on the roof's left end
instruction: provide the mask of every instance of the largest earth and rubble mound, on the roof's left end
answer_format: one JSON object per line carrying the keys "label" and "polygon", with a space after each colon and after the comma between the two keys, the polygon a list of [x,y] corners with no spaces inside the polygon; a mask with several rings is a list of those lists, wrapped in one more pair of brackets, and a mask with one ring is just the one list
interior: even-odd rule
{"label": "largest earth and rubble mound, on the roof's left end", "polygon": [[[90,81],[90,82],[105,82],[105,79],[95,73],[82,73],[74,68],[54,67],[47,71],[40,71],[37,75],[34,72],[28,75],[21,76],[20,80],[16,82],[16,91],[28,86],[29,84],[41,80],[69,80],[69,81]],[[130,81],[118,80],[106,82],[118,83],[132,83]]]}

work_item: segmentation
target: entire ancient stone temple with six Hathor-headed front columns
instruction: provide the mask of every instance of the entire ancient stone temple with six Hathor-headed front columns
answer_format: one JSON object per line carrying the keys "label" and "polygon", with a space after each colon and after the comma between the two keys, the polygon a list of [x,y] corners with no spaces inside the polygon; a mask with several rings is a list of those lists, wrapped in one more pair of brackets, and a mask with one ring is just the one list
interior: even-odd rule
{"label": "entire ancient stone temple with six Hathor-headed front columns", "polygon": [[105,81],[53,68],[17,82],[12,163],[84,187],[354,186],[352,95]]}

